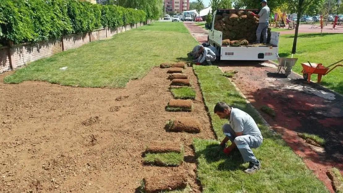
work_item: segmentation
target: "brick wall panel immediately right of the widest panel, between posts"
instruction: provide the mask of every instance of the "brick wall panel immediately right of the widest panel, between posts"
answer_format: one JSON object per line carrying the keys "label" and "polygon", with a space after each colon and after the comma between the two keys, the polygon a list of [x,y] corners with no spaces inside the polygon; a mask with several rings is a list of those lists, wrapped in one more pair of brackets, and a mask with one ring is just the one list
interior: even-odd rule
{"label": "brick wall panel immediately right of the widest panel, between posts", "polygon": [[63,50],[78,48],[89,43],[89,33],[73,34],[63,37]]}

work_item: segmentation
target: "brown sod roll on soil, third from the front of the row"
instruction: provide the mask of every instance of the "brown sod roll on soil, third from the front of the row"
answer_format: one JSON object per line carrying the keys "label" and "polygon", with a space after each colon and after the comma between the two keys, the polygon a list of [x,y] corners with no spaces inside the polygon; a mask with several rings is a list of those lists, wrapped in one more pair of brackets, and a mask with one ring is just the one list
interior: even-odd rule
{"label": "brown sod roll on soil, third from the front of the row", "polygon": [[200,123],[195,118],[178,117],[174,120],[169,120],[165,129],[171,132],[199,133]]}

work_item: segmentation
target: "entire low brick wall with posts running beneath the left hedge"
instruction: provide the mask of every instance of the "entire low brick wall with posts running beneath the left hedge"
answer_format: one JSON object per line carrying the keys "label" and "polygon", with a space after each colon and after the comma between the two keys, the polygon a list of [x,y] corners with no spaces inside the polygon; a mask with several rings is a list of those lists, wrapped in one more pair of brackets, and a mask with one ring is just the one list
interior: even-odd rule
{"label": "entire low brick wall with posts running beneath the left hedge", "polygon": [[[152,21],[148,20],[146,24],[151,22]],[[64,50],[78,48],[89,43],[90,41],[106,39],[115,34],[122,33],[143,25],[144,23],[138,23],[132,26],[121,26],[115,30],[102,28],[90,33],[73,34],[70,36],[64,36],[62,39],[49,40],[36,44],[25,43],[20,45],[12,45],[10,47],[0,47],[0,73],[10,71],[17,67],[22,67],[27,62],[49,57]]]}

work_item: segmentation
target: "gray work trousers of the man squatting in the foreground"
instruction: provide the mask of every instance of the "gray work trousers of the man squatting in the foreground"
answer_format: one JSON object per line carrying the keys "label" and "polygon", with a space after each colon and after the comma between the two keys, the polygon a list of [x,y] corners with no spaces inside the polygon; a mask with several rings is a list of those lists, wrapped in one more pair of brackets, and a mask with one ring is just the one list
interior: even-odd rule
{"label": "gray work trousers of the man squatting in the foreground", "polygon": [[262,144],[262,136],[259,135],[241,135],[236,137],[236,132],[231,128],[230,124],[225,123],[222,127],[223,133],[227,136],[231,143],[235,143],[244,162],[256,161],[256,157],[251,148],[258,148]]}

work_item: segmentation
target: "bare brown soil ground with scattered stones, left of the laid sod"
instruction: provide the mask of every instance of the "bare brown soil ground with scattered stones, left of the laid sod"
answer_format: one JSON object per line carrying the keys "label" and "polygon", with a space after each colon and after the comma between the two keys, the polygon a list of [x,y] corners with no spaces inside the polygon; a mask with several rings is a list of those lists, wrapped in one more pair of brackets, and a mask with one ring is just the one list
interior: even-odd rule
{"label": "bare brown soil ground with scattered stones, left of the laid sod", "polygon": [[[0,192],[135,192],[145,177],[185,173],[200,192],[192,138],[215,138],[197,91],[192,112],[167,112],[168,69],[153,68],[126,88],[76,88],[45,82],[3,84],[0,75]],[[198,134],[166,132],[166,121],[192,117]],[[151,141],[180,142],[180,167],[142,164]],[[191,159],[190,159],[191,158]]]}

